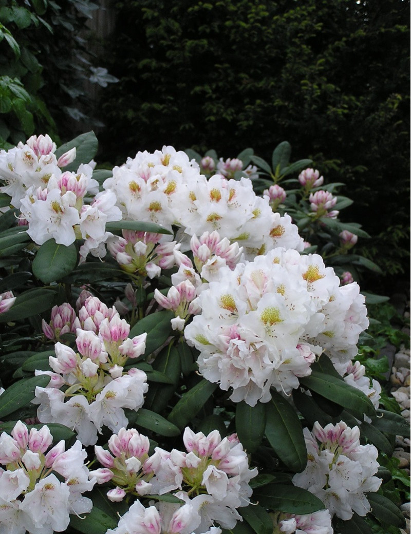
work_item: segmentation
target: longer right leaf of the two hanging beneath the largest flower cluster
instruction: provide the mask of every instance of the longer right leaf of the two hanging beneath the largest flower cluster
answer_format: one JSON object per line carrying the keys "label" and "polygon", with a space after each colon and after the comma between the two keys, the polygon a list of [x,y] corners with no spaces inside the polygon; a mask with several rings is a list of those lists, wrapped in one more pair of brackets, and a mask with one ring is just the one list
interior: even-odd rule
{"label": "longer right leaf of the two hanging beneath the largest flower cluster", "polygon": [[303,427],[296,410],[276,391],[267,403],[266,436],[280,460],[296,473],[307,465]]}

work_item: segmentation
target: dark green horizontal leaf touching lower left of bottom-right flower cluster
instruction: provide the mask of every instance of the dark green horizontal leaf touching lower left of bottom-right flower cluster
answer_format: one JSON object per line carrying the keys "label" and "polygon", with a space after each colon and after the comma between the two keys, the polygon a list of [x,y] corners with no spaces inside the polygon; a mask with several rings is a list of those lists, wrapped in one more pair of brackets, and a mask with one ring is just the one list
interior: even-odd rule
{"label": "dark green horizontal leaf touching lower left of bottom-right flower cluster", "polygon": [[285,484],[267,484],[253,492],[253,499],[273,511],[288,514],[312,514],[325,508],[323,502],[303,488]]}

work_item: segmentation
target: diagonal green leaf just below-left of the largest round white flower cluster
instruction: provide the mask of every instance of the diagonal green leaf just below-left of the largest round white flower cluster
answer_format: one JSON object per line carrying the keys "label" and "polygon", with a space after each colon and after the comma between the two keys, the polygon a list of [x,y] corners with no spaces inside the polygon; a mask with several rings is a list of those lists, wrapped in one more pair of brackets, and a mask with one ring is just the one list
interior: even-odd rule
{"label": "diagonal green leaf just below-left of the largest round white flower cluster", "polygon": [[217,384],[201,380],[181,397],[168,416],[168,420],[180,429],[183,429],[204,406],[211,397]]}

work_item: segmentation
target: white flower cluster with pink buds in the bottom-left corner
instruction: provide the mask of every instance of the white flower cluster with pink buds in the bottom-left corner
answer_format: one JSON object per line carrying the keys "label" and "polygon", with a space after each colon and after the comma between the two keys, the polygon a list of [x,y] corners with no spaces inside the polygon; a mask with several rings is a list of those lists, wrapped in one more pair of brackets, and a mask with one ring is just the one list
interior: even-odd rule
{"label": "white flower cluster with pink buds in the bottom-left corner", "polygon": [[90,512],[90,491],[96,478],[84,465],[80,441],[65,449],[43,426],[30,432],[18,421],[11,435],[0,436],[0,530],[13,534],[52,534],[66,530],[69,514]]}

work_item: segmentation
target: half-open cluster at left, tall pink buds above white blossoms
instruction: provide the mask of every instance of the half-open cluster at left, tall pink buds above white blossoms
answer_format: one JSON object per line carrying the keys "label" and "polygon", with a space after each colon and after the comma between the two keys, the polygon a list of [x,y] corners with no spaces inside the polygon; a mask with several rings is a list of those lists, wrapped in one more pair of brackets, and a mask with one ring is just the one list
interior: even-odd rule
{"label": "half-open cluster at left, tall pink buds above white blossoms", "polygon": [[41,422],[62,423],[90,445],[96,443],[103,425],[113,432],[127,425],[123,409],[138,410],[143,405],[147,375],[135,367],[124,372],[124,365],[128,358],[144,353],[147,334],[130,339],[130,325],[96,297],[86,299],[79,321],[77,352],[56,343],[56,357],[49,358],[53,372],[36,371],[50,375],[50,383],[36,387],[33,402],[40,405]]}

